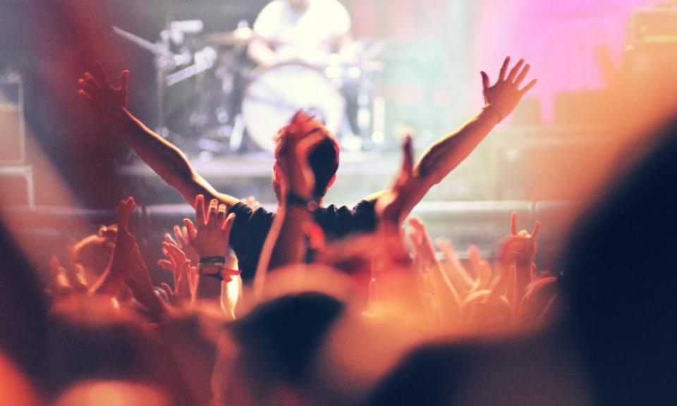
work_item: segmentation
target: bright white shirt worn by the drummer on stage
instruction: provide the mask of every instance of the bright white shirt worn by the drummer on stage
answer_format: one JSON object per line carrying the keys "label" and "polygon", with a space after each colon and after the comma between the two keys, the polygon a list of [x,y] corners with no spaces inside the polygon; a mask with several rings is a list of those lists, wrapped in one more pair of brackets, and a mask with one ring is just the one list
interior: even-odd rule
{"label": "bright white shirt worn by the drummer on stage", "polygon": [[325,61],[338,37],[350,30],[350,16],[337,0],[309,0],[295,10],[287,0],[274,0],[254,23],[256,35],[272,45],[281,60]]}

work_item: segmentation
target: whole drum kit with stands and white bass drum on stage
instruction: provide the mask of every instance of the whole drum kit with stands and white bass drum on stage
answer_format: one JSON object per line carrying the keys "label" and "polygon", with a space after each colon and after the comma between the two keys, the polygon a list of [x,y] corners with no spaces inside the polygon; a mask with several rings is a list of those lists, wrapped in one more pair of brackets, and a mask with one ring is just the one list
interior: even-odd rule
{"label": "whole drum kit with stands and white bass drum on stage", "polygon": [[350,44],[350,62],[332,54],[322,66],[260,67],[247,57],[253,32],[244,20],[233,31],[211,34],[202,32],[201,20],[173,21],[157,42],[113,29],[154,54],[157,132],[188,153],[272,153],[277,130],[300,109],[322,121],[347,151],[382,147],[384,103],[376,96],[382,42]]}

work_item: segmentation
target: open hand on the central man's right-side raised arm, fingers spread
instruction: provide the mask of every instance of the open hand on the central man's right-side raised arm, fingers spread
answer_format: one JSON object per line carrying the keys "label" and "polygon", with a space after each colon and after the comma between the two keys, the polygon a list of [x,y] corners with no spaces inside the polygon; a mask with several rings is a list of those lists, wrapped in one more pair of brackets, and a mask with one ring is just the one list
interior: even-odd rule
{"label": "open hand on the central man's right-side raised arm, fingers spread", "polygon": [[[489,109],[493,109],[499,116],[499,121],[503,120],[512,113],[520,99],[536,85],[537,80],[532,80],[525,87],[520,89],[520,85],[524,82],[531,66],[524,64],[524,59],[520,59],[518,63],[508,73],[510,66],[510,56],[506,57],[499,72],[499,78],[494,85],[489,80],[489,75],[482,71],[482,93],[484,94],[484,102]],[[506,77],[507,74],[507,77]]]}

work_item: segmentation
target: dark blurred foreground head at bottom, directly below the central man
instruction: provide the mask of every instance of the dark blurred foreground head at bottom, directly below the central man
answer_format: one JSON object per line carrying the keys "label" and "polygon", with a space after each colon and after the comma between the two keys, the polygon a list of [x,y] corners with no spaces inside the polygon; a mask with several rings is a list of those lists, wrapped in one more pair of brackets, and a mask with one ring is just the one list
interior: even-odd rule
{"label": "dark blurred foreground head at bottom, directly below the central man", "polygon": [[216,404],[317,405],[308,372],[343,309],[324,293],[295,293],[235,321],[215,366]]}

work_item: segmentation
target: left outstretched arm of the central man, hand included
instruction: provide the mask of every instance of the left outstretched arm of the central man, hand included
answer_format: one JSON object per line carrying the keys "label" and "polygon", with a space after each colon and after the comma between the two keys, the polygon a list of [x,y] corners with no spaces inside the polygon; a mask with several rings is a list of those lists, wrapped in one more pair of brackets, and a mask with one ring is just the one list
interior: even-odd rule
{"label": "left outstretched arm of the central man, hand included", "polygon": [[181,193],[186,202],[193,204],[197,195],[204,195],[207,199],[219,199],[230,209],[238,199],[216,192],[195,173],[180,149],[147,128],[127,109],[128,75],[128,70],[123,71],[120,87],[113,87],[97,62],[92,73],[86,72],[78,81],[79,94],[89,101],[106,128],[118,133],[155,173]]}

